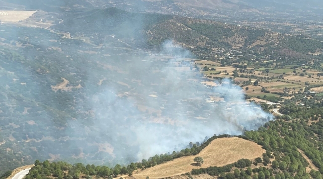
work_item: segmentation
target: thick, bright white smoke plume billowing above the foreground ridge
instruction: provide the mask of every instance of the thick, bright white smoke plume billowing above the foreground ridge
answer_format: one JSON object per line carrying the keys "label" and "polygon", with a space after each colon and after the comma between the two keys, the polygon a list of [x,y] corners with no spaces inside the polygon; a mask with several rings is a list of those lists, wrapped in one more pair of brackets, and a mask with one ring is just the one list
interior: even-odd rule
{"label": "thick, bright white smoke plume billowing above the foreground ridge", "polygon": [[[160,60],[167,56],[167,61]],[[109,74],[126,87],[111,84],[92,96],[96,121],[85,137],[109,145],[112,156],[141,160],[181,150],[206,136],[240,135],[273,119],[256,104],[247,104],[242,89],[229,79],[212,89],[201,85],[200,72],[182,61],[188,57],[187,50],[168,41],[161,54],[124,64],[131,85],[117,72]],[[224,100],[207,102],[210,96]]]}

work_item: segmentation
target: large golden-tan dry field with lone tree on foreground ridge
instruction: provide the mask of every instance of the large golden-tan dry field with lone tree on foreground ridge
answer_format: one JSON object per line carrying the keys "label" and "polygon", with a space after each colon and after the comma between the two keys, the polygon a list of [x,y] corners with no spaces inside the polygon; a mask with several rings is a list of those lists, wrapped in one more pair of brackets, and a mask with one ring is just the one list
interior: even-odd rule
{"label": "large golden-tan dry field with lone tree on foreground ridge", "polygon": [[200,154],[187,156],[173,161],[145,169],[134,173],[136,179],[160,179],[165,177],[178,176],[190,172],[192,169],[201,167],[193,166],[195,157],[203,157],[203,168],[211,166],[225,166],[232,164],[239,159],[255,159],[261,157],[265,150],[254,142],[242,138],[219,138],[212,141]]}

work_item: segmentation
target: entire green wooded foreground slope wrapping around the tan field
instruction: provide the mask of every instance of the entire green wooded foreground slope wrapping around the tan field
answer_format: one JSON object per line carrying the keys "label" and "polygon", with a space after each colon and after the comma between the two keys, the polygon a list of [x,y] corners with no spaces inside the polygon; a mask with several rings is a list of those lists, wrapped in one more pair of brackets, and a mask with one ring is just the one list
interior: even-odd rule
{"label": "entire green wooded foreground slope wrapping around the tan field", "polygon": [[[266,149],[262,158],[257,158],[253,163],[249,160],[239,160],[234,164],[224,167],[209,167],[194,169],[190,175],[200,175],[207,173],[210,176],[218,176],[221,179],[322,179],[323,173],[323,122],[316,122],[309,126],[304,119],[284,120],[278,119],[270,122],[258,131],[245,132],[244,139],[257,142]],[[226,137],[226,136],[223,136]],[[217,137],[210,138],[205,144]],[[194,144],[192,149],[196,149]],[[43,179],[47,177],[79,179],[80,177],[112,178],[118,175],[129,175],[137,170],[145,170],[171,159],[190,155],[185,149],[172,154],[161,154],[143,160],[139,163],[131,163],[127,167],[116,165],[108,168],[104,166],[75,164],[74,166],[64,163],[43,163],[36,161],[35,167],[28,174],[27,179]],[[194,154],[194,153],[193,153]],[[198,154],[195,153],[195,154]],[[307,161],[305,157],[310,161]],[[314,166],[313,166],[314,165]],[[259,167],[260,166],[260,167]],[[147,176],[149,177],[149,176]]]}

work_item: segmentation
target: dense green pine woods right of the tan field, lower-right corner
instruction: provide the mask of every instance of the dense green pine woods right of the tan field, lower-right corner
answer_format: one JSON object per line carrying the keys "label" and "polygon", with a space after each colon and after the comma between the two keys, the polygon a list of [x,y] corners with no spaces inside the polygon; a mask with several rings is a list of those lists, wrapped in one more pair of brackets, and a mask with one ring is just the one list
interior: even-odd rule
{"label": "dense green pine woods right of the tan field, lower-right corner", "polygon": [[[318,123],[320,123],[317,124],[319,126],[323,124],[322,121]],[[259,167],[251,170],[251,162],[239,160],[235,164],[224,167],[194,169],[191,174],[207,173],[211,176],[218,176],[220,179],[322,179],[322,140],[316,142],[312,139],[315,137],[313,129],[304,120],[293,120],[292,123],[276,120],[261,127],[258,131],[245,132],[244,137],[257,142],[266,149],[263,158],[255,159],[253,165],[262,163],[264,166],[269,165],[270,168]],[[306,173],[308,163],[300,154],[299,149],[304,151],[305,155],[320,169],[319,171],[312,170]],[[245,164],[238,165],[243,162]],[[233,167],[239,169],[232,171]]]}

